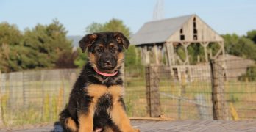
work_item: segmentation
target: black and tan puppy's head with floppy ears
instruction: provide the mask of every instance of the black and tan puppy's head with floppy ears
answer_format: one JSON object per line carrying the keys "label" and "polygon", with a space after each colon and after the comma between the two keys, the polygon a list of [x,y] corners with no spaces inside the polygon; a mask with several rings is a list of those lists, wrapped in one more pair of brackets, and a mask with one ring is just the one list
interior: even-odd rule
{"label": "black and tan puppy's head with floppy ears", "polygon": [[88,49],[90,65],[104,73],[113,73],[124,62],[124,48],[129,40],[121,32],[87,34],[79,41],[82,52]]}

